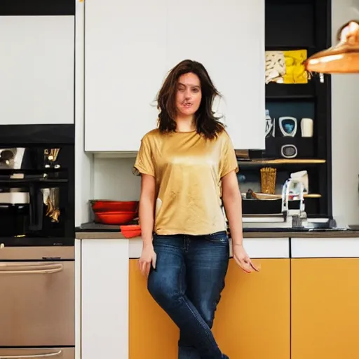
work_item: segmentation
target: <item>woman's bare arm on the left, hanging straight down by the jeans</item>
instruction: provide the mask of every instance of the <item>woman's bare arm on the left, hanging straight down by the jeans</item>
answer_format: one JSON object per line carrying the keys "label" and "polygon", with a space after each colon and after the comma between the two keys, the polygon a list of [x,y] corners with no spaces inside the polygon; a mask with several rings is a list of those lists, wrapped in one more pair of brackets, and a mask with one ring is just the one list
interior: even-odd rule
{"label": "woman's bare arm on the left, hanging straight down by the jeans", "polygon": [[156,180],[154,176],[142,174],[140,196],[140,224],[142,233],[142,254],[138,265],[142,275],[148,276],[151,264],[156,268],[156,253],[152,243],[154,231],[154,203],[156,196]]}

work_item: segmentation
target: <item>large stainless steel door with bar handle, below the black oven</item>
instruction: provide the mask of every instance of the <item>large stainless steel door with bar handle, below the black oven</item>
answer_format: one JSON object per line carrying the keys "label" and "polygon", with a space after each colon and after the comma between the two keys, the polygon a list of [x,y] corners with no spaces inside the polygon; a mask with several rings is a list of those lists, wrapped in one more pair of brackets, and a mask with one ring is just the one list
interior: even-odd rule
{"label": "large stainless steel door with bar handle, below the black oven", "polygon": [[74,263],[0,262],[0,346],[74,346]]}

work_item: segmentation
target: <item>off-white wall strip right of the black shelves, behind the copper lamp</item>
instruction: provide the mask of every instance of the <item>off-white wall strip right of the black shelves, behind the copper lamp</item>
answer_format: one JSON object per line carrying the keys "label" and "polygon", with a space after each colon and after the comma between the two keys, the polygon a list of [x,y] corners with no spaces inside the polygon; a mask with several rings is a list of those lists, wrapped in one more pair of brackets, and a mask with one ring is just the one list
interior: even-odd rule
{"label": "off-white wall strip right of the black shelves, behind the copper lamp", "polygon": [[[358,8],[358,0],[332,0],[333,44],[337,29],[348,20],[359,18]],[[346,224],[359,223],[358,93],[359,75],[332,75],[333,215]]]}

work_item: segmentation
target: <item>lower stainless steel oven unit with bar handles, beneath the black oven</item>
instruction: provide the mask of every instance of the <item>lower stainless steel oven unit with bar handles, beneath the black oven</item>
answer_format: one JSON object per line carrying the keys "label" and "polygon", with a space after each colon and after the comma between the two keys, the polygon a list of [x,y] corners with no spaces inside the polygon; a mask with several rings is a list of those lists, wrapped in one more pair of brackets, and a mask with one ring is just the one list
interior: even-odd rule
{"label": "lower stainless steel oven unit with bar handles, beneath the black oven", "polygon": [[1,359],[74,359],[74,264],[73,246],[0,249]]}

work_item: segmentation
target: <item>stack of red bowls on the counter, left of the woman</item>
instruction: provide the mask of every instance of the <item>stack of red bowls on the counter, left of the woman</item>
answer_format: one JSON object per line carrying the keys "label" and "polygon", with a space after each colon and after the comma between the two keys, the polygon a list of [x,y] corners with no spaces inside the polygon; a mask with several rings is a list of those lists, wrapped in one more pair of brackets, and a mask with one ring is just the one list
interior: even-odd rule
{"label": "stack of red bowls on the counter, left of the woman", "polygon": [[138,217],[138,201],[92,201],[95,222],[102,224],[127,224]]}

